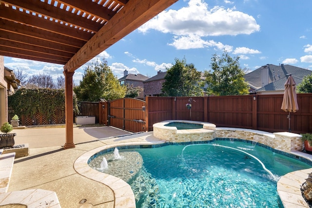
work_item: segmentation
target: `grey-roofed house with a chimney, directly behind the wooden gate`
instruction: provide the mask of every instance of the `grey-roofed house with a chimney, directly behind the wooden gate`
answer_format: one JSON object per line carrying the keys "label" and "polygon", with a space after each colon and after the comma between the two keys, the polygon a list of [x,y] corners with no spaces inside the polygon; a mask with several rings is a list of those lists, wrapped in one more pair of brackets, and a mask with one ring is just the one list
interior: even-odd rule
{"label": "grey-roofed house with a chimney, directly behind the wooden gate", "polygon": [[[123,77],[118,79],[120,85],[129,85],[133,87],[141,87],[142,89],[144,88],[143,81],[147,80],[148,77],[140,74],[128,74],[128,71],[125,70],[123,72]],[[143,99],[144,98],[144,93],[141,92],[136,98],[138,99]]]}

